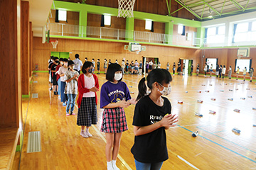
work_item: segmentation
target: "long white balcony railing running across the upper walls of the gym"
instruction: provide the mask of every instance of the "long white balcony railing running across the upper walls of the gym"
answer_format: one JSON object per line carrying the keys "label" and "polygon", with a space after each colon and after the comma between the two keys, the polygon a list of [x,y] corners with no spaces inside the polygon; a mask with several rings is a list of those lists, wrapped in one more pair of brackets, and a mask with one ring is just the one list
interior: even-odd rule
{"label": "long white balcony railing running across the upper walls of the gym", "polygon": [[168,35],[163,33],[151,33],[139,30],[124,30],[116,28],[78,26],[65,23],[46,23],[47,30],[50,29],[50,35],[102,38],[114,40],[133,40],[139,42],[154,42],[169,45],[182,45],[189,47],[220,47],[233,45],[256,45],[256,41],[232,42],[233,37],[224,37],[218,42],[213,39],[196,38],[183,35]]}

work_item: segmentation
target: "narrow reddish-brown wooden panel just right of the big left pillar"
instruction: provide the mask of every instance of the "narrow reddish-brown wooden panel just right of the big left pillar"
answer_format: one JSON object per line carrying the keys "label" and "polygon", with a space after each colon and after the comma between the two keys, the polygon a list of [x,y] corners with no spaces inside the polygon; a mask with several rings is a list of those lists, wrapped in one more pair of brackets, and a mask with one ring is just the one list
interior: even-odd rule
{"label": "narrow reddish-brown wooden panel just right of the big left pillar", "polygon": [[29,2],[21,1],[21,93],[29,94]]}

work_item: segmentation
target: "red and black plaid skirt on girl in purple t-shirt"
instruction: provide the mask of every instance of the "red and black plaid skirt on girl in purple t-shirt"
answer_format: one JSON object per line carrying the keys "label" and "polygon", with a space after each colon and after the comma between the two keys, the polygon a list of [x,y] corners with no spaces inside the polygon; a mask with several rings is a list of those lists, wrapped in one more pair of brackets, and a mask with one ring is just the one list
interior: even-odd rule
{"label": "red and black plaid skirt on girl in purple t-shirt", "polygon": [[124,108],[105,108],[102,114],[101,132],[119,133],[128,130]]}

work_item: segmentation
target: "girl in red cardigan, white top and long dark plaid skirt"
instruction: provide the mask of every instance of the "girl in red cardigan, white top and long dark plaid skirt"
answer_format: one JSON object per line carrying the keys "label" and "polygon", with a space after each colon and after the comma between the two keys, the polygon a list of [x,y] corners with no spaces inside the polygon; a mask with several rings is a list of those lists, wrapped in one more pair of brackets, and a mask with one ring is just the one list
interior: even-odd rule
{"label": "girl in red cardigan, white top and long dark plaid skirt", "polygon": [[[78,78],[78,121],[81,126],[82,137],[92,137],[89,128],[97,124],[97,94],[99,81],[95,74],[92,74],[92,62],[85,62],[82,66],[82,73]],[[85,130],[86,126],[86,130]]]}

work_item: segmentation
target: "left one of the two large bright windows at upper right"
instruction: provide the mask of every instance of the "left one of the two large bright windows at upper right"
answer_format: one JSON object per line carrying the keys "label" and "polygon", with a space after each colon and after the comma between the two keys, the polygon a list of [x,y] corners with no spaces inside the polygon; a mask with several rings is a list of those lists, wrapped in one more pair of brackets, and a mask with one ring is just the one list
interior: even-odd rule
{"label": "left one of the two large bright windows at upper right", "polygon": [[225,41],[225,26],[207,28],[207,43],[223,43]]}

